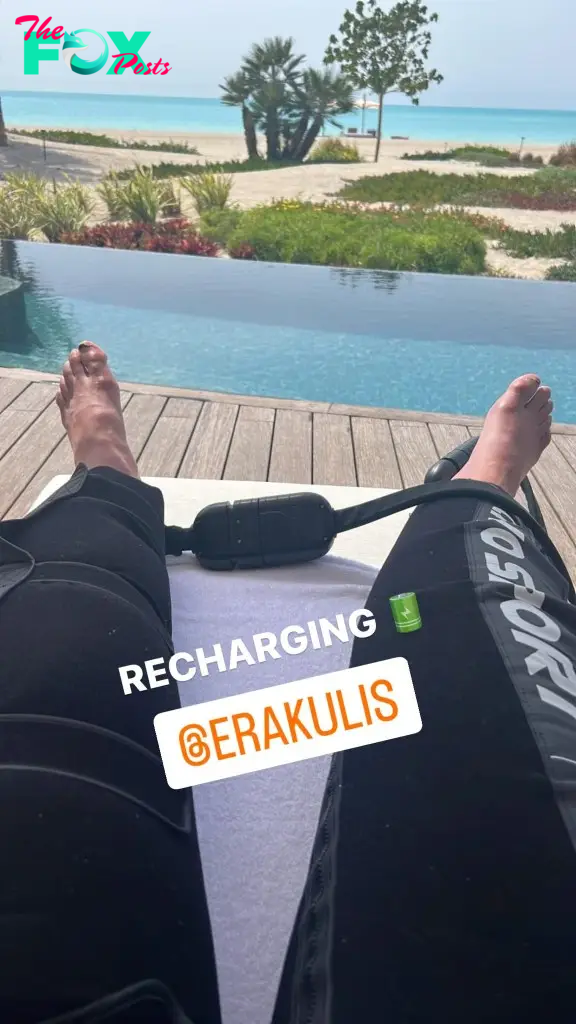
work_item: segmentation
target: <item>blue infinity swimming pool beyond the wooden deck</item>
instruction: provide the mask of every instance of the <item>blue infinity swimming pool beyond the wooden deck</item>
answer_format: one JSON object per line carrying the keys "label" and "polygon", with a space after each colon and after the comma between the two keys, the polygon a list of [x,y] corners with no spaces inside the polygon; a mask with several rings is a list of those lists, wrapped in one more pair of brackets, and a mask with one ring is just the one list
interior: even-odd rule
{"label": "blue infinity swimming pool beyond the wooden deck", "polygon": [[[538,373],[576,423],[576,286],[1,243],[30,334],[0,365],[55,372],[83,338],[125,381],[483,414]],[[2,335],[0,305],[0,337]]]}

